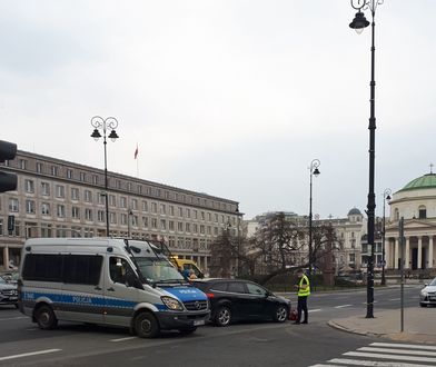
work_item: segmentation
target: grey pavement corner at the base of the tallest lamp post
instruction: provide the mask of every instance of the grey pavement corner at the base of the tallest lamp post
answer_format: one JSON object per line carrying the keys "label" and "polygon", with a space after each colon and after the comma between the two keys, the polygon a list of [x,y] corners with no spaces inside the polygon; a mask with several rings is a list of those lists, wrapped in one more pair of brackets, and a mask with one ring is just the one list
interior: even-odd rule
{"label": "grey pavement corner at the base of the tallest lamp post", "polygon": [[402,331],[399,309],[375,311],[374,316],[374,318],[365,318],[365,316],[337,318],[329,320],[328,325],[348,333],[436,345],[436,307],[405,308],[404,331]]}

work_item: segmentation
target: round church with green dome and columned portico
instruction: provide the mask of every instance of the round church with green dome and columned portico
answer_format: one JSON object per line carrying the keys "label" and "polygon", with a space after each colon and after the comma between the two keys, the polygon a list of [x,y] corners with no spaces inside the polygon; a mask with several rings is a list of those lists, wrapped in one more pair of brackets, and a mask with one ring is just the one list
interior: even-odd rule
{"label": "round church with green dome and columned portico", "polygon": [[[402,258],[407,271],[436,272],[436,175],[430,172],[408,182],[389,202],[386,228],[386,267],[399,269]],[[404,218],[404,249],[399,241],[399,220]]]}

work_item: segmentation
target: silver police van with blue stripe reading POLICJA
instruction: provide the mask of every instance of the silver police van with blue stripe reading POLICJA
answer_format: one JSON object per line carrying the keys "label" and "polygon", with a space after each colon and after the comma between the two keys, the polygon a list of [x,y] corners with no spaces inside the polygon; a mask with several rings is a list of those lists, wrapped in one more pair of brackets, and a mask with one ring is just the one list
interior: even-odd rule
{"label": "silver police van with blue stripe reading POLICJA", "polygon": [[128,327],[139,337],[196,330],[206,295],[187,284],[158,247],[116,238],[28,239],[18,304],[41,329],[58,320]]}

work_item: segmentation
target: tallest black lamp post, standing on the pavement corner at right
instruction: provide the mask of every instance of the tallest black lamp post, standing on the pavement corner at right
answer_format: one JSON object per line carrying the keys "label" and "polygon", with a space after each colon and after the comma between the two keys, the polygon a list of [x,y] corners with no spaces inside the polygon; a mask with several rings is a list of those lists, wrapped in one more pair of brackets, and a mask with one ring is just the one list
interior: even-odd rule
{"label": "tallest black lamp post, standing on the pavement corner at right", "polygon": [[370,246],[370,257],[368,259],[368,275],[367,275],[367,292],[366,292],[366,318],[374,318],[374,225],[375,225],[375,209],[376,198],[374,194],[374,170],[375,170],[375,136],[376,136],[376,117],[375,117],[375,16],[378,4],[384,0],[350,0],[351,7],[357,10],[355,19],[349,23],[349,27],[355,29],[357,33],[361,33],[364,28],[369,26],[361,10],[370,10],[371,22],[371,48],[370,48],[370,116],[369,116],[369,191],[366,214],[368,216],[368,245]]}

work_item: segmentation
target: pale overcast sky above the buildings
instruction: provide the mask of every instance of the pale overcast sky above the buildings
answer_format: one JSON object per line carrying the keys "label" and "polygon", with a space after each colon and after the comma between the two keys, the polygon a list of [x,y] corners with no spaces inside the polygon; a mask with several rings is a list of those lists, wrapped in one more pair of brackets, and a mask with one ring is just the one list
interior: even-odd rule
{"label": "pale overcast sky above the buildings", "polygon": [[[0,0],[2,140],[270,210],[366,209],[370,29],[348,0]],[[436,163],[435,0],[376,12],[376,215]],[[366,13],[370,20],[370,14]],[[133,159],[139,147],[138,170]]]}

